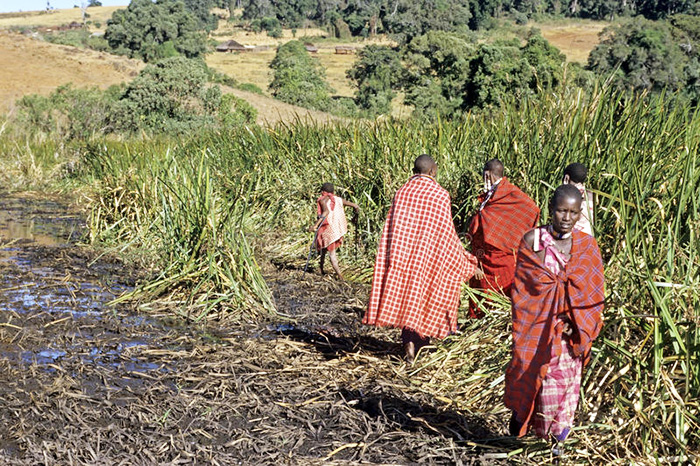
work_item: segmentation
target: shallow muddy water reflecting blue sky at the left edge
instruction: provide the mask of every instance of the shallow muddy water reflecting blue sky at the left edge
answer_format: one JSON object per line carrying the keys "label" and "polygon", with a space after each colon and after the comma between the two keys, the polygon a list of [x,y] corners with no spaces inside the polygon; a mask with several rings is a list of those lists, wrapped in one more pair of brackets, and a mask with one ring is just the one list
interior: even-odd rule
{"label": "shallow muddy water reflecting blue sky at the left edge", "polygon": [[[109,333],[106,322],[117,316],[106,303],[128,287],[113,283],[109,276],[78,279],[69,267],[56,267],[50,260],[52,255],[45,255],[47,248],[70,246],[81,225],[77,216],[66,215],[65,208],[53,201],[0,195],[0,321],[16,322],[20,324],[16,328],[22,329],[27,323],[32,327],[46,319],[39,328],[49,337],[48,341],[35,342],[33,348],[0,340],[0,358],[37,364],[48,371],[55,370],[56,364],[71,362],[96,364],[116,372],[166,370],[139,357],[142,347],[153,344],[149,336],[134,339],[129,332],[120,335],[125,327],[154,325],[148,317],[123,316],[119,318],[120,330]],[[74,338],[52,336],[53,327],[49,326],[63,320],[77,325]]]}

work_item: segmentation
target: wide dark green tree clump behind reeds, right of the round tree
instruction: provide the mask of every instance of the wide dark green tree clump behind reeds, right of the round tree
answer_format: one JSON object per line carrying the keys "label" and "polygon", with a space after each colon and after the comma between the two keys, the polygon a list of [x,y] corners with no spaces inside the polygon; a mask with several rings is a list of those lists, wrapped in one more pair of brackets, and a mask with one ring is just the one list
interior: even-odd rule
{"label": "wide dark green tree clump behind reeds, right of the round tree", "polygon": [[[562,83],[565,57],[537,31],[518,40],[476,44],[468,36],[430,32],[404,49],[406,102],[418,115],[453,115],[499,104]],[[572,70],[573,73],[573,70]]]}

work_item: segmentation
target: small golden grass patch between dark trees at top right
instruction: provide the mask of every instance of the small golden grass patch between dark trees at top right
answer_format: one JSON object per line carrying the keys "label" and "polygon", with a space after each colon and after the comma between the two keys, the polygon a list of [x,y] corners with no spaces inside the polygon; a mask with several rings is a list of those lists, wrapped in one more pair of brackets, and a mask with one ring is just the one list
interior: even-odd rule
{"label": "small golden grass patch between dark trees at top right", "polygon": [[532,26],[540,29],[542,36],[566,55],[567,61],[586,63],[591,50],[598,45],[599,34],[609,25],[604,21],[570,20]]}

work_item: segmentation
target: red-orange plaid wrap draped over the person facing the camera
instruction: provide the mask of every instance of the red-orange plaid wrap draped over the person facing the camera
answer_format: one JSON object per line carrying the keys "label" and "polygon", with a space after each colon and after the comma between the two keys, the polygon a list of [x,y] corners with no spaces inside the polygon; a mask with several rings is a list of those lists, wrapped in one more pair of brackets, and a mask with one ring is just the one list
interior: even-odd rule
{"label": "red-orange plaid wrap draped over the person facing the camera", "polygon": [[592,236],[572,232],[571,257],[556,275],[521,241],[511,293],[513,353],[504,397],[522,424],[520,435],[527,433],[532,422],[552,348],[555,352],[561,348],[561,333],[555,331],[557,316],[565,314],[573,323],[573,355],[583,357],[585,363],[603,323],[604,283],[603,261]]}

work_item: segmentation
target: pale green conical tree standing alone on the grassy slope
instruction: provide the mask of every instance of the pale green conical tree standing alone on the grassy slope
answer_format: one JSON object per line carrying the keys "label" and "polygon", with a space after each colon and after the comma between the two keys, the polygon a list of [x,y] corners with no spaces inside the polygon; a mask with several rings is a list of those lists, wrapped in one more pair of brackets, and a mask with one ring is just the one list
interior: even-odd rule
{"label": "pale green conical tree standing alone on the grassy slope", "polygon": [[304,44],[293,40],[281,45],[270,68],[270,90],[275,98],[301,107],[328,109],[331,89],[325,81],[325,70]]}

